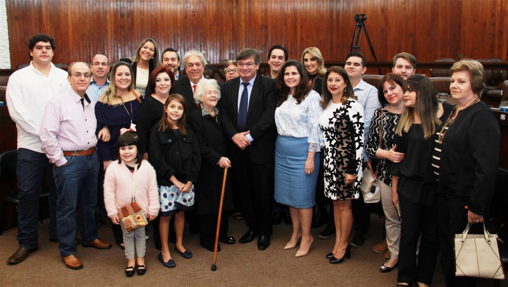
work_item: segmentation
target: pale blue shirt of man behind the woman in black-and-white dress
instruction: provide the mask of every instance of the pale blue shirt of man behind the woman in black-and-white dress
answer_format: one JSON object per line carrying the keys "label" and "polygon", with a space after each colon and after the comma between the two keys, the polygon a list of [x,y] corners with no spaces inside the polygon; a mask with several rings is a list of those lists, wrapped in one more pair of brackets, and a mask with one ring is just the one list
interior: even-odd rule
{"label": "pale blue shirt of man behind the woman in black-and-white dress", "polygon": [[[372,116],[374,115],[374,112],[379,107],[381,107],[379,99],[377,99],[377,89],[374,86],[365,83],[363,79],[360,79],[358,85],[356,85],[356,87],[353,88],[353,92],[355,93],[355,96],[358,97],[358,102],[363,107],[363,112],[365,115],[363,132],[364,138],[367,138],[369,135],[369,127],[370,121],[372,120]],[[369,160],[369,156],[365,149],[363,149],[363,160],[364,161]]]}

